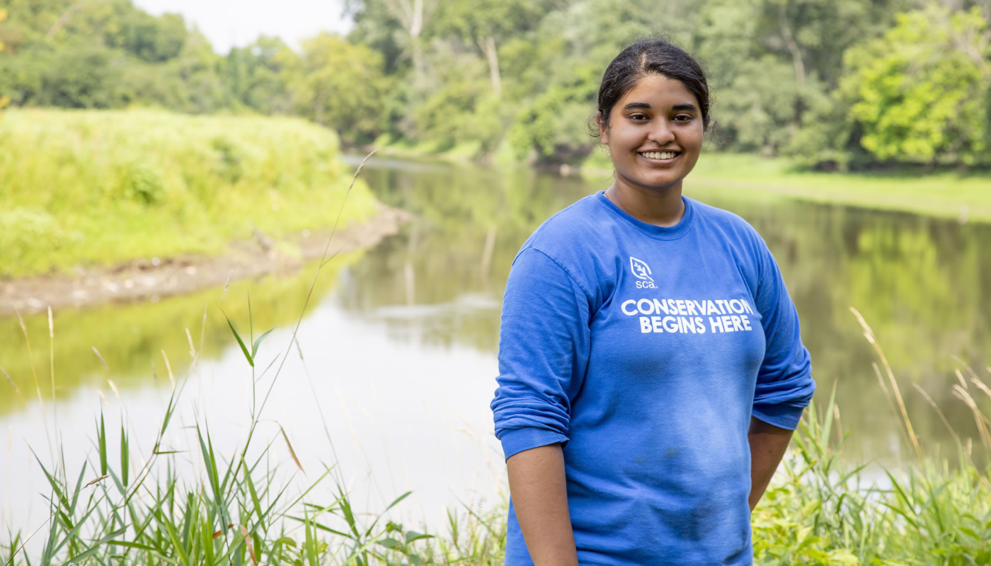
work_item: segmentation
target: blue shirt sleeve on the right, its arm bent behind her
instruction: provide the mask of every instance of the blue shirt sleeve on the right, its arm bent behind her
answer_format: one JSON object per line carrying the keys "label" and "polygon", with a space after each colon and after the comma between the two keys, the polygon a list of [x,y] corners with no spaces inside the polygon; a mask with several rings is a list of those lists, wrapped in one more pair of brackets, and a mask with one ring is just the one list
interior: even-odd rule
{"label": "blue shirt sleeve on the right, its arm bent behind her", "polygon": [[767,346],[757,373],[752,414],[769,424],[794,430],[816,391],[816,382],[809,350],[802,344],[795,304],[777,262],[766,246],[762,247],[756,306]]}

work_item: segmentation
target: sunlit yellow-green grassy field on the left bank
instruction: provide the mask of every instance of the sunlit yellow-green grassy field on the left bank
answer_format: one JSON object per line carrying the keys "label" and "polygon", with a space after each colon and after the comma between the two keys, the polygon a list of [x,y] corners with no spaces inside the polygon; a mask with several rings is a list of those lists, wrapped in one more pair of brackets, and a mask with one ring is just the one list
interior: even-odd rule
{"label": "sunlit yellow-green grassy field on the left bank", "polygon": [[[160,111],[0,117],[0,278],[184,253],[255,231],[327,227],[351,173],[337,136],[298,119]],[[359,183],[342,222],[375,199]]]}

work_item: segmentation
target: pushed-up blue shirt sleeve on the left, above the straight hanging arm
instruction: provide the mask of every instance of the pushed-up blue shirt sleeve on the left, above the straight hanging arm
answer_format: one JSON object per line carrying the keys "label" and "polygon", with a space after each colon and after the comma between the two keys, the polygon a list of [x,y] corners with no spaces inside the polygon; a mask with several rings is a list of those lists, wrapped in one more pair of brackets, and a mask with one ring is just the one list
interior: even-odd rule
{"label": "pushed-up blue shirt sleeve on the left, above the straight hanging arm", "polygon": [[533,248],[516,257],[502,298],[495,436],[506,458],[568,442],[571,399],[588,366],[588,293]]}

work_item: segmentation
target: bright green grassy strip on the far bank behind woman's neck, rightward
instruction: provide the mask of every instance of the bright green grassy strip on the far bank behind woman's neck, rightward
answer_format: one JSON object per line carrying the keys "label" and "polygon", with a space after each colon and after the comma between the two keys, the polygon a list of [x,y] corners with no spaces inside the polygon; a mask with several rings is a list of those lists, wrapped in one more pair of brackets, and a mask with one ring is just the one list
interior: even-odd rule
{"label": "bright green grassy strip on the far bank behind woman's neck, rightward", "polygon": [[[596,152],[583,172],[608,175],[605,153]],[[749,198],[785,196],[827,204],[877,210],[898,210],[965,221],[991,222],[991,173],[917,170],[865,173],[815,172],[796,168],[785,159],[704,152],[685,180],[695,187]]]}

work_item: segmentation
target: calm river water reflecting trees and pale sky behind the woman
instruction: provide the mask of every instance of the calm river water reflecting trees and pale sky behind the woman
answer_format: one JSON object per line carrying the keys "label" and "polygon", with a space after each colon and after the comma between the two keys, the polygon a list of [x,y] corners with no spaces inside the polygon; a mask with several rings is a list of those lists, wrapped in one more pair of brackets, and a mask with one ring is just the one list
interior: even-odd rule
{"label": "calm river water reflecting trees and pale sky behind the woman", "polygon": [[[34,530],[47,516],[44,476],[29,446],[45,463],[53,461],[53,446],[62,446],[76,475],[95,454],[94,421],[102,410],[108,426],[126,422],[147,455],[172,380],[184,389],[165,438],[170,449],[195,448],[193,431],[183,427],[198,418],[209,423],[222,452],[233,454],[247,431],[254,380],[258,397],[272,387],[260,430],[275,439],[280,478],[294,467],[279,425],[305,470],[295,473],[296,482],[312,481],[337,462],[333,479],[370,511],[413,490],[401,517],[439,524],[444,509],[498,501],[503,472],[488,404],[509,264],[544,218],[605,188],[608,179],[388,160],[374,162],[363,177],[381,200],[415,220],[375,249],[324,269],[298,348],[290,338],[315,267],[293,278],[235,283],[223,296],[211,289],[158,303],[56,312],[54,400],[47,318],[26,320],[37,388],[17,320],[0,319],[0,367],[17,386],[0,382],[0,536],[8,528]],[[966,366],[991,383],[991,227],[757,201],[747,192],[693,189],[691,179],[686,185],[688,195],[746,218],[777,257],[813,355],[818,399],[835,388],[853,453],[890,465],[909,454],[850,306],[873,327],[924,447],[945,453],[952,445],[913,384],[936,400],[957,433],[974,434],[973,416],[951,388],[954,370],[966,376]],[[247,334],[249,294],[256,336],[275,327],[254,378],[219,312],[222,306]],[[200,352],[192,367],[190,339]],[[275,369],[262,370],[286,353],[273,382]],[[985,404],[991,400],[970,389]],[[198,473],[195,452],[172,458],[188,477]],[[329,498],[332,488],[314,499]]]}

